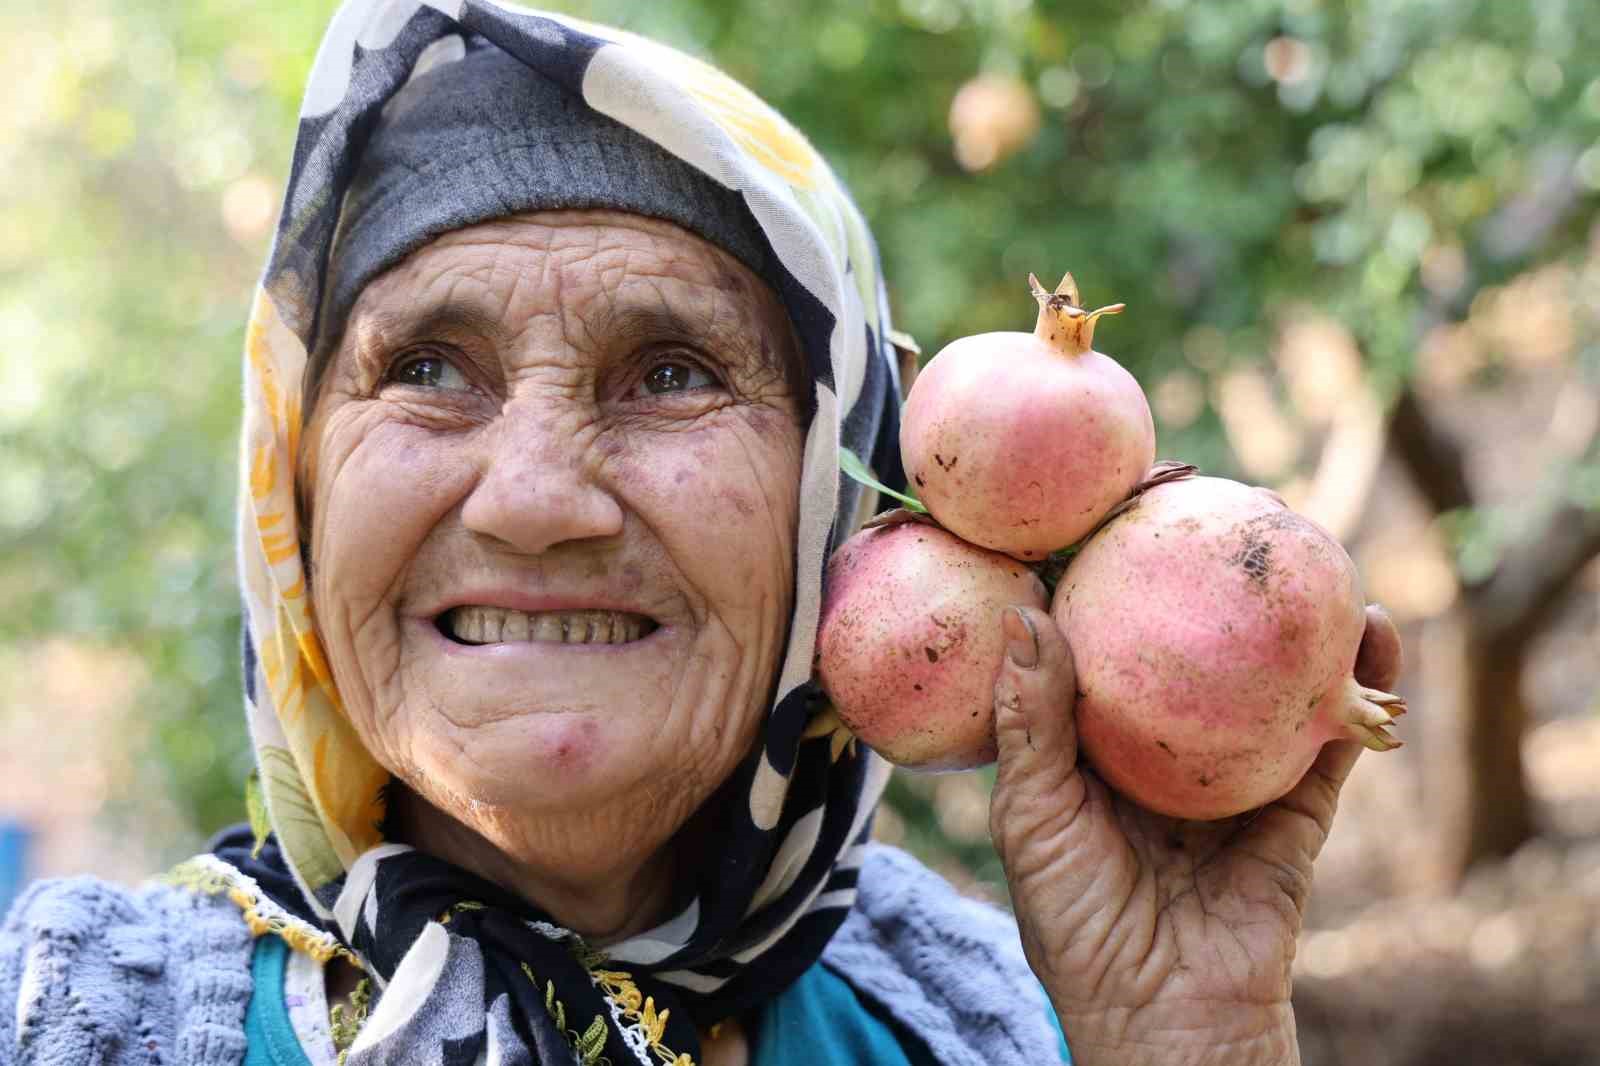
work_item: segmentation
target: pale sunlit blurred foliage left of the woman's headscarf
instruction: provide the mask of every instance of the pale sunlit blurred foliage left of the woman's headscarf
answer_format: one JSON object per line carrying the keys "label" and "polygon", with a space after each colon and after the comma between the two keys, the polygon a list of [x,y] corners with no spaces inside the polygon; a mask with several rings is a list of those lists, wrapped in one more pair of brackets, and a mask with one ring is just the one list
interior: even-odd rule
{"label": "pale sunlit blurred foliage left of the woman's headscarf", "polygon": [[237,360],[330,6],[0,8],[0,645],[144,661],[114,813],[174,789],[200,832],[250,768]]}

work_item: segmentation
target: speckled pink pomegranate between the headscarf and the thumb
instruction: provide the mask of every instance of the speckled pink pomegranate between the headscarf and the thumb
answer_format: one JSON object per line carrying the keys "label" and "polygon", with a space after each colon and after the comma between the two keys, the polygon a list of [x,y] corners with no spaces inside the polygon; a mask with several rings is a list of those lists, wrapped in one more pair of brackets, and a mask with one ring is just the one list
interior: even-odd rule
{"label": "speckled pink pomegranate between the headscarf and the thumb", "polygon": [[1032,570],[938,527],[862,530],[827,563],[818,679],[840,720],[890,762],[981,767],[995,760],[1000,611],[1046,600]]}

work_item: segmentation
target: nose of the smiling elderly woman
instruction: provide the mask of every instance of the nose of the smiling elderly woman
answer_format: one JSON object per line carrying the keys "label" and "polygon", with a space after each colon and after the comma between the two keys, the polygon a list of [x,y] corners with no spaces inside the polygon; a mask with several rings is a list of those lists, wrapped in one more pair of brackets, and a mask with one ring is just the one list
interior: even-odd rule
{"label": "nose of the smiling elderly woman", "polygon": [[485,432],[483,469],[462,523],[534,555],[621,533],[622,506],[595,480],[582,437],[549,411],[507,405]]}

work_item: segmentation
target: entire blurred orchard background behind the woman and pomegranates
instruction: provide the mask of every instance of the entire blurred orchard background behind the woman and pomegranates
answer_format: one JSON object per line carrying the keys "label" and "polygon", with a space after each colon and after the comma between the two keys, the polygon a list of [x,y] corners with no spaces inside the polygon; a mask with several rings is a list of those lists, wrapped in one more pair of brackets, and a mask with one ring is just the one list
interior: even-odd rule
{"label": "entire blurred orchard background behind the woman and pomegranates", "polygon": [[[237,367],[333,6],[0,10],[0,903],[243,816]],[[926,354],[1072,269],[1160,453],[1350,547],[1413,714],[1318,866],[1306,1061],[1600,1063],[1592,2],[562,10],[805,130]],[[899,776],[878,832],[1003,901],[987,787]]]}

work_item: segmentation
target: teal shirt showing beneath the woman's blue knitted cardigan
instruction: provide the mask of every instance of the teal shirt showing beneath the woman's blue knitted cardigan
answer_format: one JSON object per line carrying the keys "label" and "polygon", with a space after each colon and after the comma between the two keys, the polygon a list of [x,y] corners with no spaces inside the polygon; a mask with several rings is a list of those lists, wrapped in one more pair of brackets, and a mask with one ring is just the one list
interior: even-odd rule
{"label": "teal shirt showing beneath the woman's blue knitted cardigan", "polygon": [[[254,988],[245,1010],[243,1066],[310,1066],[283,1002],[290,948],[277,936],[256,941]],[[1043,994],[1040,994],[1043,999]],[[1050,1012],[1048,1000],[1043,1007]],[[1054,1012],[1050,1012],[1056,1023]],[[1056,1032],[1061,1032],[1056,1023]],[[1067,1042],[1061,1061],[1070,1066]],[[917,1037],[869,1010],[837,973],[818,964],[762,1012],[752,1066],[939,1066]]]}

